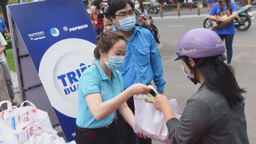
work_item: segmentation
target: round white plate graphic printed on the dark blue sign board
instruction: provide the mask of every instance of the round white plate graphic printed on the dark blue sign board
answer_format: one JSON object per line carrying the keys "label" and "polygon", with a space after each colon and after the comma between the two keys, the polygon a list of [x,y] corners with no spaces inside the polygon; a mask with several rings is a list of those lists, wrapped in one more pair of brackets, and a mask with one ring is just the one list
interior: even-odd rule
{"label": "round white plate graphic printed on the dark blue sign board", "polygon": [[[77,71],[82,73],[80,68],[92,65],[95,60],[93,56],[95,47],[95,44],[87,40],[65,39],[53,44],[42,57],[39,66],[40,80],[51,105],[66,116],[77,118],[78,82],[75,82],[79,80]],[[61,75],[65,75],[62,79],[67,86],[57,78]],[[74,92],[71,92],[70,87]],[[70,93],[65,94],[64,89],[69,89]]]}

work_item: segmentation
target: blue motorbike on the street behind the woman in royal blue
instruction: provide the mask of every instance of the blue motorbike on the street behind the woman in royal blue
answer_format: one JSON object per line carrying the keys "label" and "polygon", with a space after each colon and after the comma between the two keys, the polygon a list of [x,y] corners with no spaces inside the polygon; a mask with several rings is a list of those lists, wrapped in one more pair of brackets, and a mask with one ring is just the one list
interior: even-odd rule
{"label": "blue motorbike on the street behind the woman in royal blue", "polygon": [[[243,8],[237,11],[238,17],[234,19],[234,25],[236,29],[240,31],[245,31],[251,26],[251,18],[254,19],[253,13],[250,11],[251,7],[251,4],[245,5]],[[204,28],[215,30],[211,20],[209,19],[209,16],[205,17]]]}

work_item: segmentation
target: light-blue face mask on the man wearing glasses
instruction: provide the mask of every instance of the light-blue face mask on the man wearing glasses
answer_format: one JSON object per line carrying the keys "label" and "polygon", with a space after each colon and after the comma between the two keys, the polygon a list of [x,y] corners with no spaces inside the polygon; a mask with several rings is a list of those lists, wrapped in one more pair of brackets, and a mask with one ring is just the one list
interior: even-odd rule
{"label": "light-blue face mask on the man wearing glasses", "polygon": [[121,30],[124,31],[130,31],[136,24],[136,18],[135,15],[134,16],[129,16],[126,18],[122,18],[122,19],[116,19],[117,21],[119,21],[120,27],[117,27]]}

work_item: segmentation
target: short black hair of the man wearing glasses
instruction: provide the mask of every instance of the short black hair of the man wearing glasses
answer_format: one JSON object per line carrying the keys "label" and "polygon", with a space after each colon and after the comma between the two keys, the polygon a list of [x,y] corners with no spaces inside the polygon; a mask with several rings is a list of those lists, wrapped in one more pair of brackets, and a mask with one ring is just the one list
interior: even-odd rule
{"label": "short black hair of the man wearing glasses", "polygon": [[115,17],[115,13],[118,10],[124,9],[127,4],[130,4],[132,10],[134,10],[134,5],[130,0],[108,0],[108,15],[111,17]]}

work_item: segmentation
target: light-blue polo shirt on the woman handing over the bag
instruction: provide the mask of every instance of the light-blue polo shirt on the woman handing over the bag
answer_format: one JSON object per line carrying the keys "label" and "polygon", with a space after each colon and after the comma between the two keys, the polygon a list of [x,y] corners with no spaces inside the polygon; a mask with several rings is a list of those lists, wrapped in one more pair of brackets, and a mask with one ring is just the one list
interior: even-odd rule
{"label": "light-blue polo shirt on the woman handing over the bag", "polygon": [[114,120],[114,112],[97,120],[87,105],[85,96],[92,93],[100,93],[102,102],[112,99],[124,91],[123,79],[118,70],[112,70],[112,82],[105,74],[99,60],[87,68],[81,75],[78,88],[78,116],[76,125],[80,128],[102,128]]}

